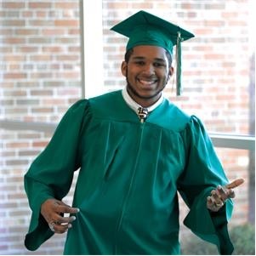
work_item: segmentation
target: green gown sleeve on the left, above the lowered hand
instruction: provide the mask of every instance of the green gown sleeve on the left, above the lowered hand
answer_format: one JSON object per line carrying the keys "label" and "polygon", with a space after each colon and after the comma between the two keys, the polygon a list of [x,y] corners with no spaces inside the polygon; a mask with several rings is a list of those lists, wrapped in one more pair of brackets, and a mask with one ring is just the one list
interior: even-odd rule
{"label": "green gown sleeve on the left, above the lowered hand", "polygon": [[41,205],[49,198],[61,200],[70,190],[73,173],[79,168],[79,134],[87,116],[87,100],[79,100],[72,105],[61,119],[53,138],[31,163],[24,177],[32,211],[25,246],[31,251],[54,235],[40,213]]}

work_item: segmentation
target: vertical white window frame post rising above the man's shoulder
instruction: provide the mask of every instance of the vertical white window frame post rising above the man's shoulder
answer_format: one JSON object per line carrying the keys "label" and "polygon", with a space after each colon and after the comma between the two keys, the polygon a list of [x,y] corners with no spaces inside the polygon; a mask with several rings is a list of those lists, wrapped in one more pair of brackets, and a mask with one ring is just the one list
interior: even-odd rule
{"label": "vertical white window frame post rising above the man's shoulder", "polygon": [[82,97],[104,92],[102,1],[80,0]]}

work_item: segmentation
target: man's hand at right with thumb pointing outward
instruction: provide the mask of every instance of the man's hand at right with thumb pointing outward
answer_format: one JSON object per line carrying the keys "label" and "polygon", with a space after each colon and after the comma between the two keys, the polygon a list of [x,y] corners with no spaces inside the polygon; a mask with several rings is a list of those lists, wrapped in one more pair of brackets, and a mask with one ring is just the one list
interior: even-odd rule
{"label": "man's hand at right with thumb pointing outward", "polygon": [[242,185],[243,182],[244,179],[236,179],[228,185],[218,185],[214,191],[211,191],[211,196],[207,198],[207,208],[213,212],[218,212],[228,198],[235,197],[235,192],[232,189]]}

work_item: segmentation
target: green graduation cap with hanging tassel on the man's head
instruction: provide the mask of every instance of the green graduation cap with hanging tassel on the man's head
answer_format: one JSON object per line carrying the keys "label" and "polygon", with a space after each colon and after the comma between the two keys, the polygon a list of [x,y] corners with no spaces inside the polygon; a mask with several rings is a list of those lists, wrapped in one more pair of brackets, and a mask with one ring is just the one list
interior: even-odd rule
{"label": "green graduation cap with hanging tassel on the man's head", "polygon": [[195,37],[191,32],[185,31],[181,27],[176,26],[167,20],[162,20],[145,11],[139,11],[128,17],[128,19],[113,26],[111,30],[129,38],[126,50],[138,45],[154,45],[165,48],[171,55],[173,55],[173,48],[174,45],[176,45],[176,94],[181,94],[180,43],[191,37]]}

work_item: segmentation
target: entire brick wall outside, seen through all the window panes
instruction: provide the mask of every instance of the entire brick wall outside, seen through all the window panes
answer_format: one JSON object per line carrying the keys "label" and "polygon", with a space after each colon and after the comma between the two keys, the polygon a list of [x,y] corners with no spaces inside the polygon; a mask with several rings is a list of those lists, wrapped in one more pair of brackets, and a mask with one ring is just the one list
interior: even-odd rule
{"label": "entire brick wall outside, seen through all the window panes", "polygon": [[[183,47],[184,94],[174,97],[170,82],[168,97],[212,131],[247,134],[249,2],[103,0],[105,88],[125,84],[120,64],[126,39],[109,28],[139,9],[149,10],[196,34]],[[78,0],[3,0],[0,7],[1,118],[58,122],[82,94]],[[52,134],[0,131],[0,254],[61,254],[65,235],[37,252],[23,246],[30,218],[23,175]],[[230,179],[247,178],[247,151],[218,153]],[[231,225],[247,221],[247,182],[238,191]],[[181,219],[186,211],[183,205]]]}

